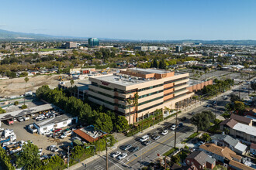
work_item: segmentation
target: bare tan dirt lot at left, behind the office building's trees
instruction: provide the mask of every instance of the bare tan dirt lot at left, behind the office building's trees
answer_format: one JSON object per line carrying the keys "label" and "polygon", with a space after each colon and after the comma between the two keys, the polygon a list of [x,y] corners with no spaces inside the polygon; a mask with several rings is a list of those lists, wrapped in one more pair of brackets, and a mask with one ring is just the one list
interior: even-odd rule
{"label": "bare tan dirt lot at left, behind the office building's trees", "polygon": [[24,94],[25,85],[26,91],[33,92],[43,85],[57,87],[59,83],[58,77],[59,75],[29,76],[27,84],[24,81],[24,77],[0,80],[0,95],[1,97],[10,97]]}

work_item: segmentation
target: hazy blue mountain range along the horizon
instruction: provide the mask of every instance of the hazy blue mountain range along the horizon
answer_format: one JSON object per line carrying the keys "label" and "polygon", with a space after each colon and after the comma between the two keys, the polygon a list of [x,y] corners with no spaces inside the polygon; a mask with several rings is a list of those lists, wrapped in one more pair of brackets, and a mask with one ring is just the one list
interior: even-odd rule
{"label": "hazy blue mountain range along the horizon", "polygon": [[[24,32],[11,32],[0,29],[0,41],[4,40],[73,40],[83,41],[87,40],[88,37],[74,37],[74,36],[50,36],[45,34],[33,34]],[[256,40],[200,40],[200,39],[184,39],[184,40],[139,40],[139,39],[109,39],[99,38],[101,42],[134,42],[134,43],[183,43],[183,42],[194,42],[202,44],[216,44],[216,45],[254,45],[256,46]]]}

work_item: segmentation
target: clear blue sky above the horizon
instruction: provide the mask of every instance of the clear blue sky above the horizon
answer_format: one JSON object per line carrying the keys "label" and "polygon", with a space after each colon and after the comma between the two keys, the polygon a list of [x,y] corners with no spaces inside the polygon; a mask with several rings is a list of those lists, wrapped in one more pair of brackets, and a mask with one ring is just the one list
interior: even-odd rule
{"label": "clear blue sky above the horizon", "polygon": [[110,39],[254,39],[255,0],[0,0],[0,29]]}

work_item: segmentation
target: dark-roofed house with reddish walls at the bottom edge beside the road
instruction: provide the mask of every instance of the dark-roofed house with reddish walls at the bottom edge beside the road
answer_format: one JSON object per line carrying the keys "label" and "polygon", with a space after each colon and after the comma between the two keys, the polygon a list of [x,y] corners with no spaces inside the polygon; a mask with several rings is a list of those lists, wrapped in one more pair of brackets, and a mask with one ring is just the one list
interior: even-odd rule
{"label": "dark-roofed house with reddish walls at the bottom edge beside the road", "polygon": [[209,155],[206,155],[203,151],[193,151],[192,154],[185,158],[185,163],[194,170],[213,169],[216,165],[216,160],[210,158]]}

